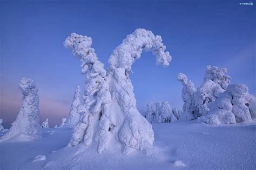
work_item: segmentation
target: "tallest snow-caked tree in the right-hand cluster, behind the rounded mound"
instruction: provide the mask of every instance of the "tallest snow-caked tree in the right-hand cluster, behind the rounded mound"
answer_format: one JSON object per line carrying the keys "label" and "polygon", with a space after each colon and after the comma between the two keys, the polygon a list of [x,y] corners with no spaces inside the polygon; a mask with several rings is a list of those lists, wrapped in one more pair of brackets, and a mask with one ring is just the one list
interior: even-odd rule
{"label": "tallest snow-caked tree in the right-hand cluster, behind the rounded mound", "polygon": [[225,75],[226,68],[207,66],[204,82],[197,89],[195,95],[196,105],[199,108],[199,116],[206,115],[212,103],[223,93],[230,84],[231,77]]}

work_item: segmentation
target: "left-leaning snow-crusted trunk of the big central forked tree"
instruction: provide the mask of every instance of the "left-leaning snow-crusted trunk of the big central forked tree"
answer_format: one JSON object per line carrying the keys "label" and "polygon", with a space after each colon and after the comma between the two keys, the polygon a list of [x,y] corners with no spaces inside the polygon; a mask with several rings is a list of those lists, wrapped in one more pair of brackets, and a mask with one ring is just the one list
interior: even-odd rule
{"label": "left-leaning snow-crusted trunk of the big central forked tree", "polygon": [[106,110],[105,105],[111,102],[106,70],[91,45],[91,37],[76,33],[72,33],[64,42],[64,46],[71,48],[73,54],[82,62],[82,73],[86,78],[84,104],[77,107],[81,117],[73,128],[69,146],[75,146],[82,142],[85,146],[91,144],[92,134],[97,131],[92,126],[102,118],[103,112]]}

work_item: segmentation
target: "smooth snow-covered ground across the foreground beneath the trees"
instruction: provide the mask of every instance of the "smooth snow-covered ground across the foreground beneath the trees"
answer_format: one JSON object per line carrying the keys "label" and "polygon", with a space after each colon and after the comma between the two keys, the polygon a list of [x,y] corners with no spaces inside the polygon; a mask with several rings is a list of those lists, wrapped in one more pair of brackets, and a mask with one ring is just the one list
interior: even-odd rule
{"label": "smooth snow-covered ground across the foreground beneath the trees", "polygon": [[[197,121],[153,124],[147,151],[98,154],[93,146],[66,147],[72,129],[46,128],[42,138],[0,143],[0,169],[255,169],[256,123],[211,126]],[[83,145],[83,144],[82,144]]]}

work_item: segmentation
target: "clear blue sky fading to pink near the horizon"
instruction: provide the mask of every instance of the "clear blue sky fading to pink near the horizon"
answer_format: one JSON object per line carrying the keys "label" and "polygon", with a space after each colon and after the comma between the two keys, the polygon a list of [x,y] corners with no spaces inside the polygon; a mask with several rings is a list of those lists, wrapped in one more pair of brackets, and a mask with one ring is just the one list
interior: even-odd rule
{"label": "clear blue sky fading to pink near the horizon", "polygon": [[[41,121],[60,124],[67,117],[77,85],[84,87],[80,62],[63,41],[71,32],[92,37],[100,61],[107,60],[137,28],[162,37],[172,55],[168,68],[143,53],[130,76],[139,109],[150,101],[182,107],[177,73],[195,86],[207,65],[225,67],[232,83],[255,91],[255,1],[0,1],[1,112],[4,126],[15,121],[21,105],[18,81],[35,80]],[[249,1],[248,1],[249,2]]]}

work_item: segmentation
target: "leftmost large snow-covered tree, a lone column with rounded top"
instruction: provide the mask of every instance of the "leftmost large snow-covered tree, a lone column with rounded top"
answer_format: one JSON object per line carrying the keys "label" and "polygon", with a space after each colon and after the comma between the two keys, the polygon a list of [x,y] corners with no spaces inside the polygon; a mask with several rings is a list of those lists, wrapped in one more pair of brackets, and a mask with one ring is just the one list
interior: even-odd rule
{"label": "leftmost large snow-covered tree, a lone column with rounded top", "polygon": [[39,98],[36,84],[33,80],[22,78],[19,81],[22,91],[22,106],[16,121],[12,123],[10,130],[0,139],[8,140],[34,140],[41,136],[39,124]]}

